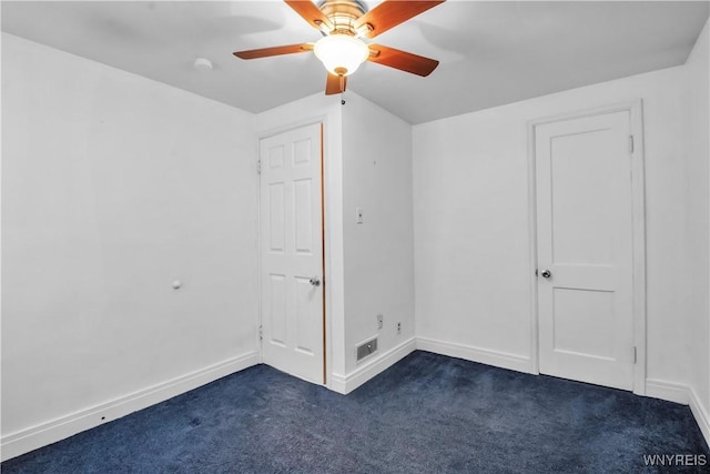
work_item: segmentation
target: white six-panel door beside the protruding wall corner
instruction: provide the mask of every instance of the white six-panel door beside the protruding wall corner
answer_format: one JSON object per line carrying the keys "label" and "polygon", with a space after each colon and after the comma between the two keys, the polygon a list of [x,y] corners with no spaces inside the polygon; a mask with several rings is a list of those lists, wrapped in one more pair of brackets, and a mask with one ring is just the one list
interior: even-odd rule
{"label": "white six-panel door beside the protruding wall corner", "polygon": [[264,363],[324,383],[321,124],[260,141]]}

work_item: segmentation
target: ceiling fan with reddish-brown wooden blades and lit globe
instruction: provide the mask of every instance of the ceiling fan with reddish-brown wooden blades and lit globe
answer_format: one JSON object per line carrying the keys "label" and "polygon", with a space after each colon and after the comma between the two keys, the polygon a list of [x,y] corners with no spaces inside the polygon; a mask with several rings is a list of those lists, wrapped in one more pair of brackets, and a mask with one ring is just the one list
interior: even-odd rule
{"label": "ceiling fan with reddish-brown wooden blades and lit globe", "polygon": [[439,63],[410,52],[366,43],[363,38],[373,39],[445,0],[384,0],[369,11],[359,0],[321,0],[317,4],[311,0],[284,1],[321,31],[323,38],[302,44],[237,51],[235,57],[256,59],[313,51],[328,71],[325,83],[328,95],[344,92],[347,77],[364,61],[423,77],[429,75]]}

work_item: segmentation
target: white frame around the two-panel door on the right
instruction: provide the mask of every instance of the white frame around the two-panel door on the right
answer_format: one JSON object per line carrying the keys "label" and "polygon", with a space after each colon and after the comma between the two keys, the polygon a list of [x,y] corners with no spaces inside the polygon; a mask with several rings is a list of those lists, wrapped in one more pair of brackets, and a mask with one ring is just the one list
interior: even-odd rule
{"label": "white frame around the two-panel door on the right", "polygon": [[541,124],[628,111],[633,150],[631,152],[632,252],[633,252],[633,393],[646,395],[646,178],[643,171],[643,108],[641,99],[613,105],[536,119],[528,122],[528,229],[530,254],[530,372],[540,373],[537,286],[537,189],[535,133]]}

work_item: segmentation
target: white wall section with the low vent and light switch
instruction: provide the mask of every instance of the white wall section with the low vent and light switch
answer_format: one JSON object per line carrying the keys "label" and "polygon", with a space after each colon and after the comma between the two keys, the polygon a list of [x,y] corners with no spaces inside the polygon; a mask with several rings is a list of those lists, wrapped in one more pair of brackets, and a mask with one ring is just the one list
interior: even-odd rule
{"label": "white wall section with the low vent and light switch", "polygon": [[[348,93],[343,107],[347,391],[414,350],[412,205],[412,127]],[[356,223],[358,206],[362,224]],[[356,345],[374,336],[377,354],[356,363]]]}

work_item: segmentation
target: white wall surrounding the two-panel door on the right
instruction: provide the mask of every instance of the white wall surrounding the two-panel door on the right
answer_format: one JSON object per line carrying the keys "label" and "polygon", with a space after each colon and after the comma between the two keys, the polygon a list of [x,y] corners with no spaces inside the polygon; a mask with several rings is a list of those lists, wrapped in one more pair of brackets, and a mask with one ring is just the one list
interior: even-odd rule
{"label": "white wall surrounding the two-panel door on the right", "polygon": [[444,352],[530,370],[527,123],[640,98],[647,376],[689,383],[683,78],[683,67],[672,68],[414,127],[417,336]]}

